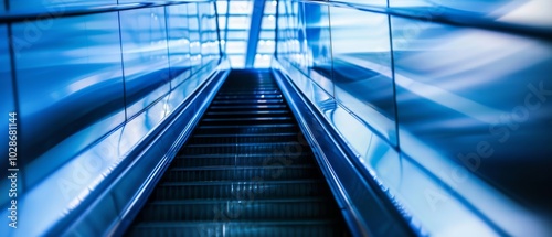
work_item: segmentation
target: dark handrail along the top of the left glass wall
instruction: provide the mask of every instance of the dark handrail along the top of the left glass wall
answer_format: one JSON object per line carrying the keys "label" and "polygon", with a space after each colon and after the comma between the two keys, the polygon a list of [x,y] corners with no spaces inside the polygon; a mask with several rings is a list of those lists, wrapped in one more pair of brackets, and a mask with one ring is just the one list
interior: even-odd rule
{"label": "dark handrail along the top of the left glass wall", "polygon": [[52,18],[66,18],[199,2],[214,2],[214,0],[147,1],[119,4],[86,4],[76,7],[52,6],[45,11],[44,9],[36,11],[7,11],[0,14],[0,23],[28,22],[36,20],[47,20]]}

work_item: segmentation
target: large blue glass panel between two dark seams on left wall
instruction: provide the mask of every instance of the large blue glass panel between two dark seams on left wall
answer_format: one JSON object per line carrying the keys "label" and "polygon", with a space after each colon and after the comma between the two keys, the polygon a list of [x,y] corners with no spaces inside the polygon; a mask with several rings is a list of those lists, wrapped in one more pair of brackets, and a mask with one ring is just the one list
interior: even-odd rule
{"label": "large blue glass panel between two dark seams on left wall", "polygon": [[13,24],[28,185],[124,121],[117,13],[60,18],[52,25],[30,37],[25,23]]}

